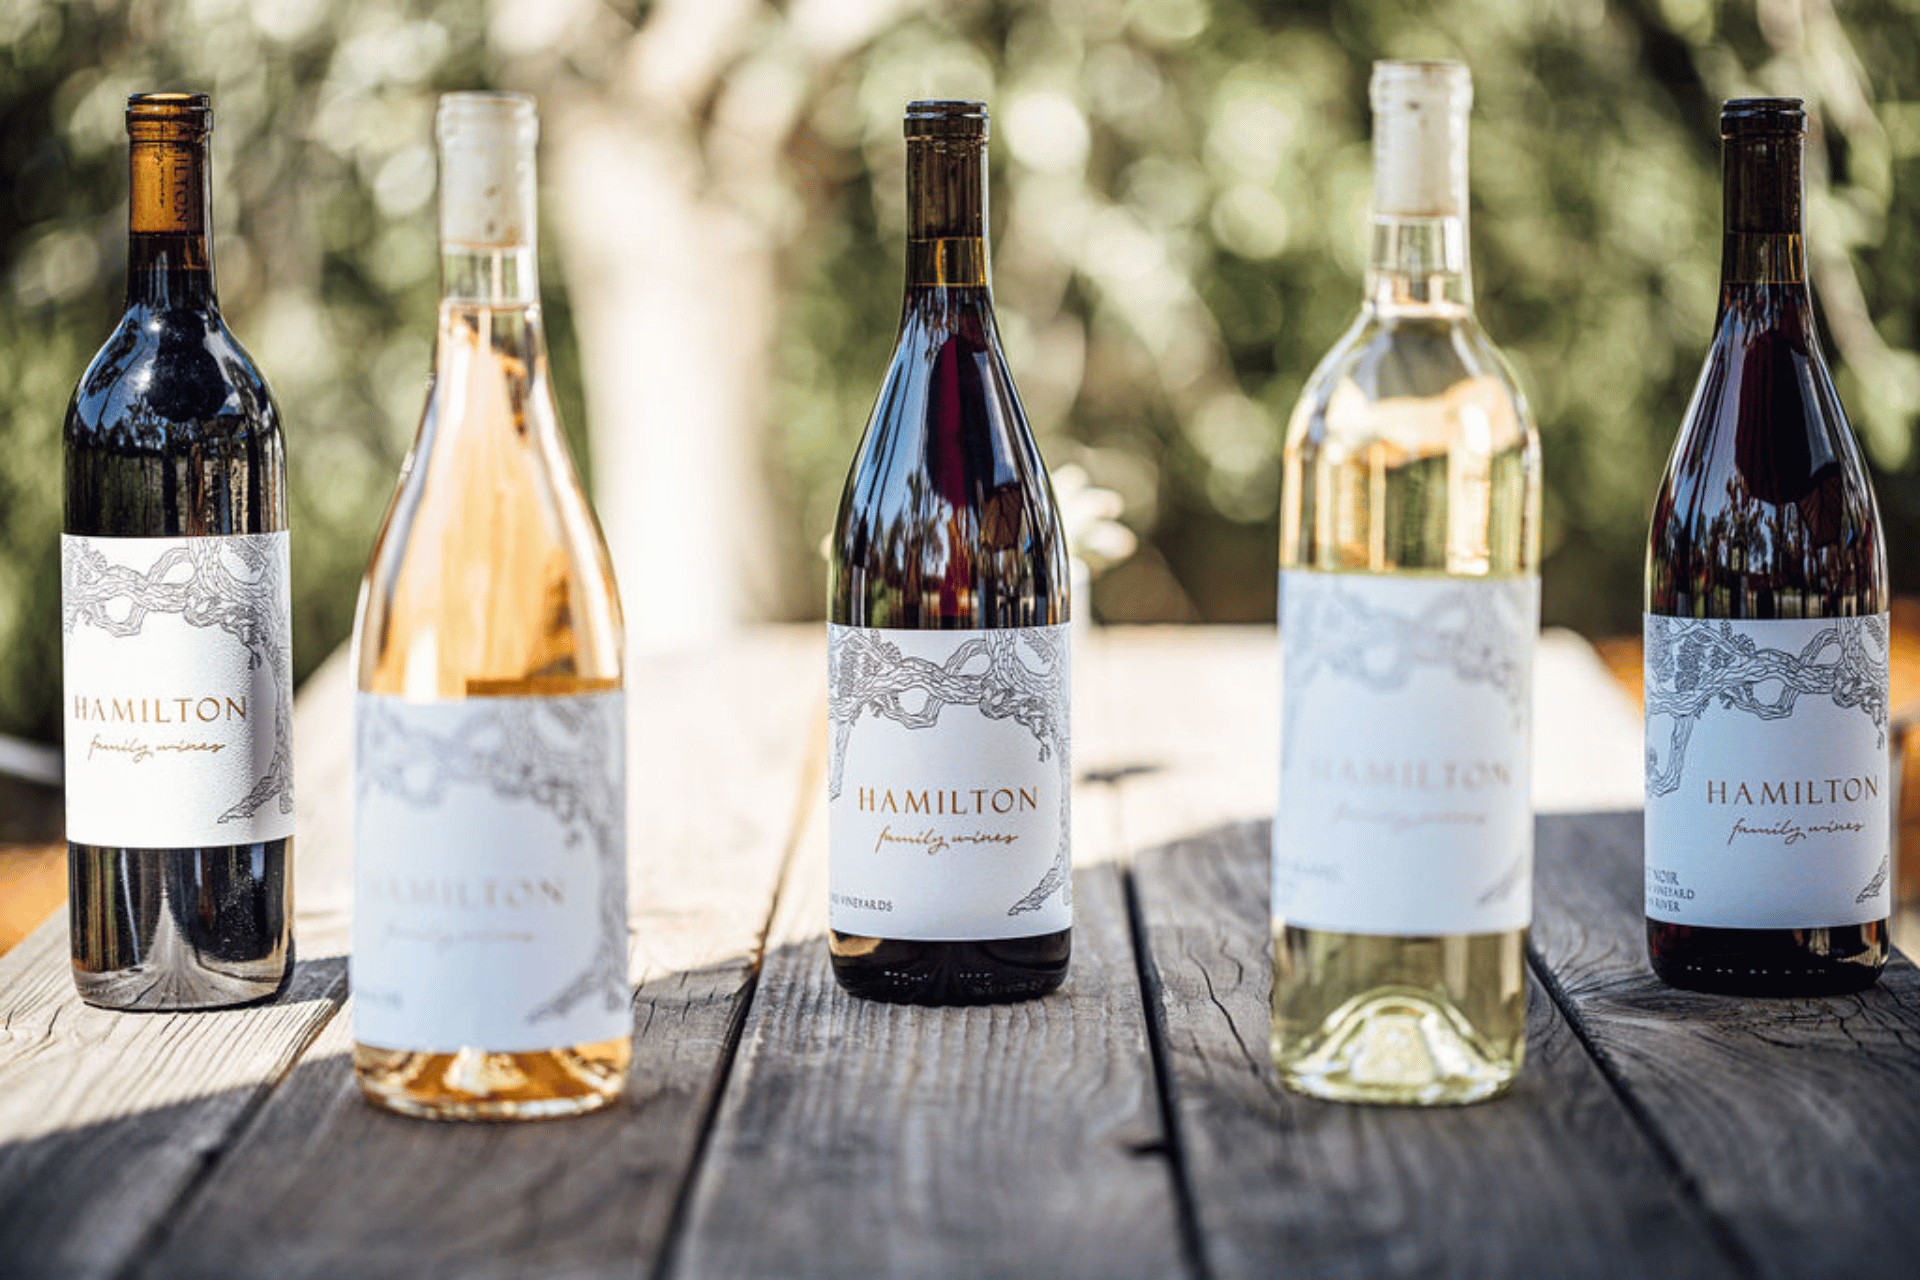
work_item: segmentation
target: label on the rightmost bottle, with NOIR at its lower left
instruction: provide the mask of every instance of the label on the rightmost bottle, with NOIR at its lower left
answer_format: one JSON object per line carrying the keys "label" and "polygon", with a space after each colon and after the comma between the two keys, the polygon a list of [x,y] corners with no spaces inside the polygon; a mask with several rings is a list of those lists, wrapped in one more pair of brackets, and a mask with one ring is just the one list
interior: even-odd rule
{"label": "label on the rightmost bottle, with NOIR at its lower left", "polygon": [[1887,614],[1645,616],[1649,919],[1889,915],[1887,635]]}

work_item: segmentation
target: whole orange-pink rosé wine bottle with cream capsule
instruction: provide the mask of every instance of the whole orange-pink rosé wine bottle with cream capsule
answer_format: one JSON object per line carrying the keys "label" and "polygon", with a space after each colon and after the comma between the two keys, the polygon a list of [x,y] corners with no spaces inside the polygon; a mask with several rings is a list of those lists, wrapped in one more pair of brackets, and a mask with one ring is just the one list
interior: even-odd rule
{"label": "whole orange-pink ros\u00e9 wine bottle with cream capsule", "polygon": [[440,100],[434,378],[353,633],[353,1069],[376,1105],[609,1105],[632,1054],[624,622],[547,376],[534,100]]}

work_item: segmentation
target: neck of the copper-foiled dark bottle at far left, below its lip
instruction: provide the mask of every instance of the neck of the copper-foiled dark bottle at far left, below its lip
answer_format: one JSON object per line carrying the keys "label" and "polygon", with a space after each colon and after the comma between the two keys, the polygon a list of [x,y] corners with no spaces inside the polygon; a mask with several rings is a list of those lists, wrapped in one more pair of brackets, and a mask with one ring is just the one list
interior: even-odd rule
{"label": "neck of the copper-foiled dark bottle at far left, below its lip", "polygon": [[142,138],[129,148],[127,305],[213,309],[207,138]]}

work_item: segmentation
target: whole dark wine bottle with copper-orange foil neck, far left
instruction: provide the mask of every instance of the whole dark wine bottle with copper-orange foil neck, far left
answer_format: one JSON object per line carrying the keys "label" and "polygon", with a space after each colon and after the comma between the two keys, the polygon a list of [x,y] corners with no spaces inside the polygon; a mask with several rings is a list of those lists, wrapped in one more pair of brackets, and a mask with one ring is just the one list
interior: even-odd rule
{"label": "whole dark wine bottle with copper-orange foil neck, far left", "polygon": [[127,100],[127,311],[65,422],[67,912],[81,998],[204,1009],[294,967],[280,411],[227,330],[205,94]]}

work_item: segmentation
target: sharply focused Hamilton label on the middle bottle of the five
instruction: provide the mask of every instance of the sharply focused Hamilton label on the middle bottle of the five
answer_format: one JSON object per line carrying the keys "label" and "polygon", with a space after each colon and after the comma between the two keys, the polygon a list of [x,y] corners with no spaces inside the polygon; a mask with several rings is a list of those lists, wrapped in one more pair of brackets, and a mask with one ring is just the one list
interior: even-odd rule
{"label": "sharply focused Hamilton label on the middle bottle of the five", "polygon": [[828,626],[828,921],[874,938],[1073,923],[1068,628]]}

